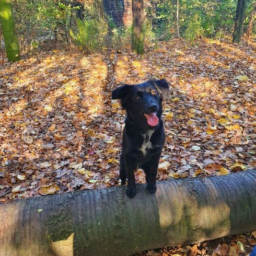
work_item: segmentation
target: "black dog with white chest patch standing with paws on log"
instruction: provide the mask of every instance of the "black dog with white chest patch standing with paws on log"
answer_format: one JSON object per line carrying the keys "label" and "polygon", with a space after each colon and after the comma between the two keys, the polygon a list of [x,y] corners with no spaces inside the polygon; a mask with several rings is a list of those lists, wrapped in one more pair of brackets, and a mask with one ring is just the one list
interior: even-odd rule
{"label": "black dog with white chest patch standing with paws on log", "polygon": [[156,191],[158,163],[165,142],[161,120],[162,100],[169,96],[165,79],[149,80],[142,84],[122,85],[112,91],[112,99],[120,99],[127,112],[123,131],[120,178],[128,179],[126,194],[136,194],[134,170],[142,168],[146,173],[147,190]]}

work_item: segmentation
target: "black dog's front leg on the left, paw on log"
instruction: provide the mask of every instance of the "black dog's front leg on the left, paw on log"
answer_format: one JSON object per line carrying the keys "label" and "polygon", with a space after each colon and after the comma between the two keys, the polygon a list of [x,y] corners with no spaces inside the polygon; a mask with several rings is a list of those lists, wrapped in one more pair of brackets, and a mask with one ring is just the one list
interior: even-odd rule
{"label": "black dog's front leg on the left, paw on log", "polygon": [[133,198],[137,193],[135,177],[134,177],[134,169],[136,168],[136,164],[134,159],[132,159],[130,156],[125,154],[124,154],[124,161],[125,161],[125,169],[126,169],[126,175],[128,180],[126,195],[129,196],[130,198]]}

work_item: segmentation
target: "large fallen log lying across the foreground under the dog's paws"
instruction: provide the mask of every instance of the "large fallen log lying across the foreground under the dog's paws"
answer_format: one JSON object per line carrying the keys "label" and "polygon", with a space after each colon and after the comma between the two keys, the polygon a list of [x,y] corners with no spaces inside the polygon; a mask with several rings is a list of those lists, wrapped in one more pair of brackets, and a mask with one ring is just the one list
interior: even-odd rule
{"label": "large fallen log lying across the foreground under the dog's paws", "polygon": [[17,200],[0,206],[0,255],[126,255],[256,229],[256,170]]}

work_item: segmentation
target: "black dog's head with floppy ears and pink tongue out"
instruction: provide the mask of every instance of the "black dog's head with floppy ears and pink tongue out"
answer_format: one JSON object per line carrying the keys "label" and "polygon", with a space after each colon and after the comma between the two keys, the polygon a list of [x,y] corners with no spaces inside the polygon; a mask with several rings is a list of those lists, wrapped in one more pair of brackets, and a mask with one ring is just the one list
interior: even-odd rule
{"label": "black dog's head with floppy ears and pink tongue out", "polygon": [[112,91],[112,99],[119,99],[127,114],[136,120],[143,117],[150,126],[158,124],[162,114],[161,102],[168,97],[169,84],[165,79],[124,84]]}

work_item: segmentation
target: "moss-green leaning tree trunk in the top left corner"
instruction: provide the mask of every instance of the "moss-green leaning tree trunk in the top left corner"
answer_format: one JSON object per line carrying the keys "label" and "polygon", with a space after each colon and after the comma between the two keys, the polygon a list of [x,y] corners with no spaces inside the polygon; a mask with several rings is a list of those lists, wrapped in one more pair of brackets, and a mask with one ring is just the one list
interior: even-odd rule
{"label": "moss-green leaning tree trunk in the top left corner", "polygon": [[15,30],[11,0],[0,0],[0,21],[2,24],[5,48],[9,61],[20,60],[19,43]]}

